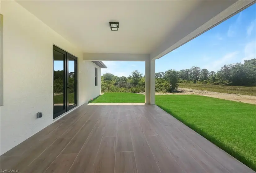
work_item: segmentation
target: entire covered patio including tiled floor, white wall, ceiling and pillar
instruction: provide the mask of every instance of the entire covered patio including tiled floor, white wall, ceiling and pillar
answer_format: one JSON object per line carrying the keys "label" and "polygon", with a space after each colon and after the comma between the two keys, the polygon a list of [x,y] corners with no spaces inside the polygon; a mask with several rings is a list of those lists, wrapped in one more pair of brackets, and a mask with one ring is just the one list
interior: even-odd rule
{"label": "entire covered patio including tiled floor, white wall, ceiling and pillar", "polygon": [[[1,171],[253,173],[155,105],[155,60],[254,3],[0,0]],[[77,64],[74,108],[57,118],[53,47],[66,90],[67,56]],[[91,61],[144,61],[145,103],[87,104],[101,93]]]}

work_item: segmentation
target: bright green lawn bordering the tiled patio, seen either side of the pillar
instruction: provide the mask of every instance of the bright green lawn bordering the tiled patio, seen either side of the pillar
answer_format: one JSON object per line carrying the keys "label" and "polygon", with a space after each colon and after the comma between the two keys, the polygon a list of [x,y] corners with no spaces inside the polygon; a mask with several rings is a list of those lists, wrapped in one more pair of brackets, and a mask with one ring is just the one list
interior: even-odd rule
{"label": "bright green lawn bordering the tiled patio, seen either side of the pillar", "polygon": [[[145,96],[105,93],[92,103],[143,103]],[[256,171],[256,105],[199,95],[156,95],[156,105]]]}

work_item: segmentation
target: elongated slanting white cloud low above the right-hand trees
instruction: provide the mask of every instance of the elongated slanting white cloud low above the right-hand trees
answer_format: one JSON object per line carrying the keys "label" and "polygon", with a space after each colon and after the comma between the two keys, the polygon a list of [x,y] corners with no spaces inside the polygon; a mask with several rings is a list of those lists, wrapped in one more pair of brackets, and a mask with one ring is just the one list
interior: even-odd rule
{"label": "elongated slanting white cloud low above the right-hand trees", "polygon": [[229,64],[232,62],[234,58],[236,58],[236,55],[239,53],[239,51],[227,53],[222,58],[215,60],[211,62],[210,64],[206,65],[204,68],[208,69],[209,71],[217,71],[225,64]]}

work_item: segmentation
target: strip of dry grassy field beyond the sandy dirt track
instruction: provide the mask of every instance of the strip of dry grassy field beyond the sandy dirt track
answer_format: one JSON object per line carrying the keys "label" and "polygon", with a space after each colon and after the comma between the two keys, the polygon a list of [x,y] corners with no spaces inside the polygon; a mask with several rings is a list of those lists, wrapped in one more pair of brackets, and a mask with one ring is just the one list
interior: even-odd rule
{"label": "strip of dry grassy field beyond the sandy dirt track", "polygon": [[256,86],[226,86],[226,85],[209,85],[196,83],[179,83],[181,88],[190,88],[196,90],[205,90],[230,94],[255,95]]}

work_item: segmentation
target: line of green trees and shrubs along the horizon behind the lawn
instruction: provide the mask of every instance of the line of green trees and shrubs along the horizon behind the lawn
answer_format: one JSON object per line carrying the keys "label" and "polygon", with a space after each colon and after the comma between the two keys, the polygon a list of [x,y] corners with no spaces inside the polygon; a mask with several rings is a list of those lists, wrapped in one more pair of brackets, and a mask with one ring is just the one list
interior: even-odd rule
{"label": "line of green trees and shrubs along the horizon behind the lawn", "polygon": [[[224,65],[217,72],[199,67],[184,70],[167,70],[155,73],[156,92],[175,92],[178,83],[199,83],[215,85],[255,86],[256,85],[256,58]],[[145,75],[135,70],[128,77],[117,77],[111,73],[101,76],[101,91],[133,92],[145,91]]]}

